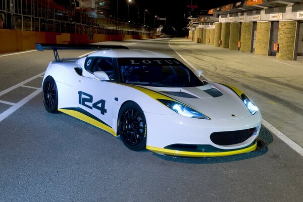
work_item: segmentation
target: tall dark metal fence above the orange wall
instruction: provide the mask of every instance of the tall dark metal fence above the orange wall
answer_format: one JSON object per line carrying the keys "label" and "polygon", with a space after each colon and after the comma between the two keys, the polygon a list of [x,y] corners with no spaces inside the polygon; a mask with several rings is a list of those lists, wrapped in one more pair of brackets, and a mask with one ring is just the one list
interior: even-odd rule
{"label": "tall dark metal fence above the orange wall", "polygon": [[150,35],[155,29],[66,8],[51,0],[0,0],[0,28],[62,33]]}

